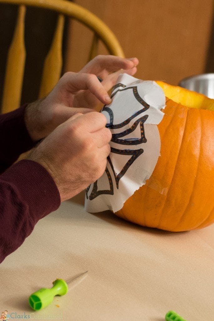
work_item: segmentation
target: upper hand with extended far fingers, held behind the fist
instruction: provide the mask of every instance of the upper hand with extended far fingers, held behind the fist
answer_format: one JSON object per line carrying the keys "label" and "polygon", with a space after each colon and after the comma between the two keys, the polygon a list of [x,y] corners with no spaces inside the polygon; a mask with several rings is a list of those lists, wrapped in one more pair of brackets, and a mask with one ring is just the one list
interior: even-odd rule
{"label": "upper hand with extended far fingers, held behind the fist", "polygon": [[[32,140],[46,137],[76,113],[92,111],[89,108],[94,108],[99,101],[109,104],[111,100],[107,91],[115,84],[118,74],[126,72],[133,75],[136,65],[137,58],[97,56],[79,73],[65,73],[45,99],[26,108],[25,124]],[[103,79],[101,83],[97,76]]]}

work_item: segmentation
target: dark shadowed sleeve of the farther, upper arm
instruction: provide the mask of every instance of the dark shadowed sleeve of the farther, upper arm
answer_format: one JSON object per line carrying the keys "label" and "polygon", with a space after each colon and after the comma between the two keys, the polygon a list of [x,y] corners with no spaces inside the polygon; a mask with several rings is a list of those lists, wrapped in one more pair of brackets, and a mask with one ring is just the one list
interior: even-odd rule
{"label": "dark shadowed sleeve of the farther, upper arm", "polygon": [[24,122],[26,106],[0,115],[0,173],[12,165],[21,153],[35,145]]}

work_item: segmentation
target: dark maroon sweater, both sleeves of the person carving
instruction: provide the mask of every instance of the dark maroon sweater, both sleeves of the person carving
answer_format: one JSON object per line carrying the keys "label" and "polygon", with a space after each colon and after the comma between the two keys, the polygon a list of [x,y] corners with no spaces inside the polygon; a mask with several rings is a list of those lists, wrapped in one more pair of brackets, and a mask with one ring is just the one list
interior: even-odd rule
{"label": "dark maroon sweater, both sleeves of the person carving", "polygon": [[32,160],[12,165],[35,145],[24,123],[25,107],[0,115],[0,263],[60,205],[56,184],[43,166]]}

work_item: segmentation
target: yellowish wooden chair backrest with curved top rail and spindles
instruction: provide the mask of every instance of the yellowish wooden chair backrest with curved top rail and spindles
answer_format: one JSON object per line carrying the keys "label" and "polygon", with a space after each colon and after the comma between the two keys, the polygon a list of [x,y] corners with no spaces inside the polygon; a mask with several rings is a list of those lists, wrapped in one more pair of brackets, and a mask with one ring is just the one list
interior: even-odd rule
{"label": "yellowish wooden chair backrest with curved top rail and spindles", "polygon": [[111,55],[124,57],[123,50],[116,36],[107,25],[93,13],[77,4],[67,0],[0,0],[0,3],[19,5],[17,23],[7,56],[1,107],[2,113],[12,111],[20,106],[26,57],[24,44],[26,6],[49,9],[58,13],[54,37],[44,62],[38,98],[45,97],[61,76],[64,16],[76,19],[93,30],[94,37],[88,60],[97,55],[99,39],[104,43]]}

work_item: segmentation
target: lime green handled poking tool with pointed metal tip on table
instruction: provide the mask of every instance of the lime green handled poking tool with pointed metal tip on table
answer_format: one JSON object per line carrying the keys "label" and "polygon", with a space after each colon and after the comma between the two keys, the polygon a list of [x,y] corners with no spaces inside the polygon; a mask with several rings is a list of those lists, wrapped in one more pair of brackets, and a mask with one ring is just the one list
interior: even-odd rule
{"label": "lime green handled poking tool with pointed metal tip on table", "polygon": [[40,310],[47,307],[54,299],[55,295],[64,295],[68,292],[68,284],[77,279],[81,279],[84,274],[88,271],[81,273],[76,278],[69,281],[64,281],[63,279],[56,279],[53,282],[53,287],[51,289],[43,288],[33,294],[29,298],[29,304],[32,309]]}

